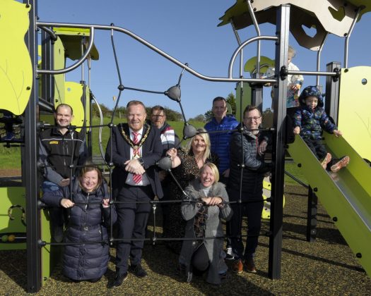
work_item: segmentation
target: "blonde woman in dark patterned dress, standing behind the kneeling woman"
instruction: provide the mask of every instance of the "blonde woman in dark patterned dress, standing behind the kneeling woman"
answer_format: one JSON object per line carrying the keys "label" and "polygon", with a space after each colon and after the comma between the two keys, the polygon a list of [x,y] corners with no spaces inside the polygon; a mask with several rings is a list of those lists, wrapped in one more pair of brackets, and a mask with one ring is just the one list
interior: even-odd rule
{"label": "blonde woman in dark patterned dress, standing behind the kneeling woman", "polygon": [[[210,137],[204,128],[199,128],[196,135],[182,149],[169,149],[167,155],[172,161],[172,173],[175,175],[179,185],[185,188],[189,182],[199,177],[199,171],[204,164],[211,162],[218,166],[218,156],[211,152]],[[172,181],[170,184],[171,200],[181,200],[183,190]],[[180,214],[180,205],[169,204],[169,216],[166,225],[163,225],[164,238],[183,238],[185,221]],[[182,242],[170,241],[167,243],[173,252],[179,254]]]}

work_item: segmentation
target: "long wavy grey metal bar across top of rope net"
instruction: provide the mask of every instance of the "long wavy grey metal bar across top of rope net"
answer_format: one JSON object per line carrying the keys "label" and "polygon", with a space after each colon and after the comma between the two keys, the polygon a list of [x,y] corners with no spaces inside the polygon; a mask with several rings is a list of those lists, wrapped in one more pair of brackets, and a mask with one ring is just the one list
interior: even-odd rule
{"label": "long wavy grey metal bar across top of rope net", "polygon": [[[126,30],[122,27],[116,27],[116,26],[110,26],[110,25],[87,25],[87,24],[73,24],[73,23],[45,23],[45,22],[37,22],[37,26],[49,26],[49,27],[81,27],[81,28],[91,28],[94,27],[98,30],[115,30],[117,32],[122,32],[126,35],[129,35],[130,37],[136,39],[136,41],[141,42],[141,44],[145,45],[149,49],[152,49],[153,51],[157,52],[164,58],[167,58],[167,60],[171,61],[172,63],[175,63],[177,66],[184,68],[187,70],[187,72],[191,73],[192,75],[202,79],[202,80],[208,80],[208,81],[214,81],[214,82],[261,82],[261,79],[252,79],[252,78],[218,78],[218,77],[210,77],[206,75],[202,75],[192,68],[189,68],[186,64],[178,61],[176,58],[173,58],[172,56],[165,53],[165,51],[162,51],[161,49],[158,49],[153,44],[147,42],[145,39],[139,37],[138,35],[134,34],[133,32]],[[271,39],[271,40],[277,40],[277,37],[266,37],[263,36],[260,39]],[[254,40],[252,40],[254,41]],[[38,71],[40,73],[40,71]],[[53,73],[53,74],[59,74],[59,73]],[[266,79],[264,80],[265,83],[276,83],[276,79]]]}

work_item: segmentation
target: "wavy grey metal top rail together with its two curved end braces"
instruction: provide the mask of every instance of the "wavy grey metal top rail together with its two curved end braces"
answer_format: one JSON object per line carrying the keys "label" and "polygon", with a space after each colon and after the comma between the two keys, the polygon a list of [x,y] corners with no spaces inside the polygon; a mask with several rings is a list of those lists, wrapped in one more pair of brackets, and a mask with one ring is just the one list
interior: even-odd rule
{"label": "wavy grey metal top rail together with its two curved end braces", "polygon": [[[122,32],[134,39],[136,39],[138,42],[141,42],[141,44],[145,45],[149,49],[152,49],[153,51],[157,52],[164,58],[167,58],[167,60],[171,61],[172,63],[175,63],[177,66],[184,68],[184,70],[187,70],[187,72],[191,73],[192,75],[196,76],[197,78],[201,78],[202,80],[207,80],[207,81],[214,81],[214,82],[261,82],[261,79],[257,78],[232,78],[231,75],[229,75],[228,78],[223,78],[223,77],[211,77],[211,76],[206,76],[202,75],[201,73],[198,73],[196,70],[193,70],[186,64],[178,61],[176,58],[173,58],[169,54],[165,53],[165,51],[162,51],[161,49],[158,49],[155,47],[153,44],[150,42],[147,42],[145,39],[139,37],[138,35],[134,34],[133,32],[124,29],[123,27],[117,27],[114,25],[88,25],[88,24],[76,24],[76,23],[47,23],[47,22],[37,22],[36,23],[37,27],[79,27],[79,28],[88,28],[90,29],[90,40],[89,42],[93,42],[94,36],[91,34],[94,32],[94,29],[96,30],[114,30],[117,32]],[[247,42],[243,43],[242,47],[245,47],[246,44],[251,43],[253,41],[257,41],[259,39],[268,39],[268,40],[277,40],[278,37],[272,37],[272,36],[261,36],[261,37],[254,37],[252,39],[247,40]],[[90,44],[89,44],[90,45]],[[241,47],[241,46],[240,46]],[[237,51],[240,51],[241,49],[237,49]],[[64,68],[60,70],[37,70],[37,73],[40,74],[61,74],[61,73],[67,73],[69,70],[73,70],[74,68],[78,67],[83,61],[86,59],[90,51],[90,48],[86,50],[85,54],[76,62],[73,66],[70,66],[69,68]],[[237,52],[238,53],[238,52]],[[237,56],[236,51],[235,51],[235,56]],[[230,63],[232,63],[232,60],[234,61],[235,58],[232,58]],[[73,67],[73,68],[71,68]],[[231,66],[230,66],[231,68]],[[264,82],[266,83],[276,83],[276,79],[264,79]]]}

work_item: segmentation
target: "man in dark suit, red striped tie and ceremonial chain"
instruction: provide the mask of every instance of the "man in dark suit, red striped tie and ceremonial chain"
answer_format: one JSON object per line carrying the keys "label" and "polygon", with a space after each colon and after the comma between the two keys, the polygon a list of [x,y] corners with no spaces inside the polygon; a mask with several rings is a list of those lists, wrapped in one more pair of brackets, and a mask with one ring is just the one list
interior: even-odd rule
{"label": "man in dark suit, red striped tie and ceremonial chain", "polygon": [[150,201],[155,196],[163,197],[155,166],[163,153],[158,129],[144,124],[146,109],[141,101],[129,101],[126,119],[127,123],[112,128],[105,156],[114,164],[112,195],[118,202],[118,238],[122,240],[117,242],[116,276],[112,287],[122,285],[128,270],[139,278],[147,276],[141,266],[141,255]]}

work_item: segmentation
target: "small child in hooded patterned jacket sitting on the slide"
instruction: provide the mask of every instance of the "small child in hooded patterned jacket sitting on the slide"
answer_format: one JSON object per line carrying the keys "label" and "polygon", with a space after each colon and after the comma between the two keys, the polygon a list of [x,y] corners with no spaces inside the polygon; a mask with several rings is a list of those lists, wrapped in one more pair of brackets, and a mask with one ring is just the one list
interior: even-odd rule
{"label": "small child in hooded patterned jacket sitting on the slide", "polygon": [[322,167],[336,173],[349,164],[349,156],[332,159],[322,143],[322,128],[336,137],[343,135],[324,111],[321,92],[315,86],[305,87],[299,97],[300,107],[295,111],[294,134],[302,137]]}

